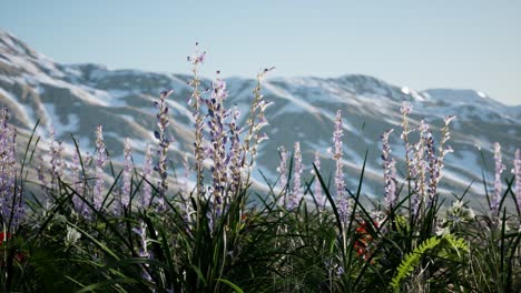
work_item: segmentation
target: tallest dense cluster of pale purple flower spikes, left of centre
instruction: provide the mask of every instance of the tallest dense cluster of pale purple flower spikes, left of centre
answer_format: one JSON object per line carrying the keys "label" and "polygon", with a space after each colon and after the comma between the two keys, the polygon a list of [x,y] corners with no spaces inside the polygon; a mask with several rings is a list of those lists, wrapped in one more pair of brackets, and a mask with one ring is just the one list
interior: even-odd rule
{"label": "tallest dense cluster of pale purple flower spikes, left of centre", "polygon": [[[228,95],[226,82],[217,77],[209,90],[209,97],[203,98],[204,92],[199,89],[198,65],[204,62],[206,52],[199,53],[198,44],[194,54],[188,57],[194,73],[194,78],[188,82],[193,89],[188,104],[193,109],[195,120],[196,195],[205,194],[203,171],[204,160],[207,158],[212,161],[212,186],[208,193],[213,198],[214,215],[218,216],[226,209],[230,196],[237,194],[244,183],[243,173],[246,168],[253,165],[258,143],[267,139],[267,135],[259,131],[268,124],[264,111],[269,103],[259,93],[259,84],[272,69],[264,70],[257,77],[258,82],[254,90],[255,100],[250,108],[250,117],[246,121],[249,129],[243,142],[243,128],[238,123],[240,112],[236,108],[226,109],[224,105]],[[206,113],[203,113],[203,110],[206,110]],[[206,133],[208,133],[207,138],[205,138]],[[246,181],[249,181],[249,173]]]}

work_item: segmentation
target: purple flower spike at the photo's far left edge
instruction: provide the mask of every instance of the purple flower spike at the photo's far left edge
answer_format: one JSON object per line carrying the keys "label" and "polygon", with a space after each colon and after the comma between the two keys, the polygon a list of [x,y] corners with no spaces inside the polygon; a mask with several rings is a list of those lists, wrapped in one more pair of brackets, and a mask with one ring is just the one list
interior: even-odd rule
{"label": "purple flower spike at the photo's far left edge", "polygon": [[[9,127],[9,111],[0,113],[0,216],[2,231],[14,232],[24,215],[23,194],[17,186],[17,133]],[[7,232],[7,233],[6,233]]]}

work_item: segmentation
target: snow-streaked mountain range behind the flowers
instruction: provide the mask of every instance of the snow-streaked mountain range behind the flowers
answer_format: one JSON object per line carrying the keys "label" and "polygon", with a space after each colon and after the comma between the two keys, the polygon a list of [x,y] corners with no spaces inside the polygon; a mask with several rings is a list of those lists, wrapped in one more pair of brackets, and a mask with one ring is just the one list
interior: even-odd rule
{"label": "snow-streaked mountain range behind the flowers", "polygon": [[[21,133],[29,132],[40,120],[38,134],[47,137],[53,127],[59,140],[71,152],[73,133],[83,151],[95,150],[96,125],[102,124],[108,150],[121,161],[125,138],[130,138],[134,160],[142,162],[147,144],[154,144],[156,109],[153,101],[165,89],[174,89],[169,132],[176,139],[171,158],[181,166],[180,158],[190,152],[193,119],[187,108],[190,89],[186,74],[165,74],[139,70],[110,70],[99,64],[60,64],[29,48],[16,37],[0,31],[0,107],[8,107]],[[252,79],[227,80],[227,105],[237,104],[246,113],[253,100]],[[209,87],[210,80],[203,80]],[[382,194],[380,135],[394,128],[393,155],[403,163],[404,148],[400,140],[403,101],[413,104],[411,123],[424,118],[439,129],[445,115],[458,115],[450,144],[454,153],[446,158],[444,184],[461,193],[473,181],[480,181],[482,169],[491,176],[492,144],[502,144],[503,160],[512,165],[515,148],[521,146],[521,107],[504,105],[474,90],[431,89],[414,91],[376,78],[348,74],[334,79],[313,77],[273,78],[265,81],[263,93],[275,105],[266,110],[269,140],[259,151],[258,168],[276,179],[277,148],[293,149],[299,141],[304,164],[311,171],[316,150],[323,156],[323,170],[333,171],[331,155],[333,120],[336,110],[344,117],[344,153],[347,186],[358,182],[365,150],[368,150],[363,192]],[[246,117],[246,115],[244,115]],[[436,138],[439,133],[435,132]],[[482,154],[485,164],[482,161]],[[330,171],[324,171],[328,176]],[[258,172],[255,178],[260,179]],[[305,174],[311,178],[307,172]],[[480,183],[473,193],[483,193]]]}

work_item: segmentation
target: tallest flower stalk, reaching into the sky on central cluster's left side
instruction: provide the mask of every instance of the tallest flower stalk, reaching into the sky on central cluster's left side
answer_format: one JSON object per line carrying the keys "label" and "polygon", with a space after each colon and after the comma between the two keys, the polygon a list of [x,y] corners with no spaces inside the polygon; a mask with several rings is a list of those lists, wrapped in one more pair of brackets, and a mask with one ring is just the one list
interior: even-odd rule
{"label": "tallest flower stalk, reaching into the sky on central cluster's left side", "polygon": [[206,52],[199,53],[199,44],[196,43],[196,50],[191,57],[188,57],[188,61],[191,63],[191,72],[194,78],[188,82],[191,87],[193,92],[191,97],[188,101],[193,109],[193,117],[195,121],[195,142],[194,142],[194,155],[195,155],[195,163],[196,163],[196,189],[197,189],[197,196],[200,196],[204,192],[203,190],[203,161],[205,156],[205,150],[203,146],[203,128],[204,128],[204,119],[200,113],[200,80],[198,77],[198,65],[204,62]]}

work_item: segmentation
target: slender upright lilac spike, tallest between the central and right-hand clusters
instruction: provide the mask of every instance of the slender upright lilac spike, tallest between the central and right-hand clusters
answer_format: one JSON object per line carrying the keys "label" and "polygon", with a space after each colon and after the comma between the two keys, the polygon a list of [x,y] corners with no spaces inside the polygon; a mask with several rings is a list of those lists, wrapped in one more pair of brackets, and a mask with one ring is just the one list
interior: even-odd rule
{"label": "slender upright lilac spike, tallest between the central and right-hand clusters", "polygon": [[335,170],[335,191],[336,191],[336,200],[338,205],[338,213],[340,216],[345,223],[348,218],[348,209],[350,204],[347,198],[345,195],[345,183],[344,183],[344,162],[342,161],[342,153],[343,153],[343,141],[342,137],[344,137],[344,131],[342,130],[342,111],[338,110],[335,117],[335,131],[333,132],[333,143],[334,150],[333,152],[333,160],[335,161],[336,170]]}

